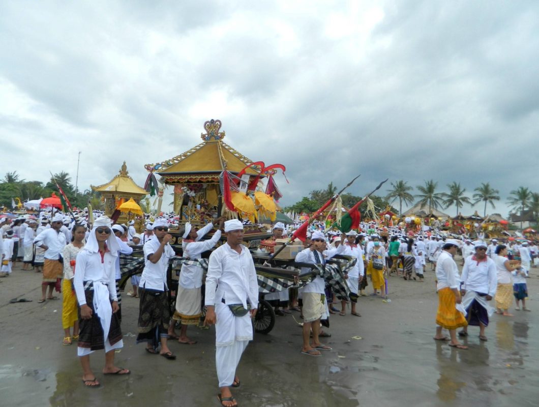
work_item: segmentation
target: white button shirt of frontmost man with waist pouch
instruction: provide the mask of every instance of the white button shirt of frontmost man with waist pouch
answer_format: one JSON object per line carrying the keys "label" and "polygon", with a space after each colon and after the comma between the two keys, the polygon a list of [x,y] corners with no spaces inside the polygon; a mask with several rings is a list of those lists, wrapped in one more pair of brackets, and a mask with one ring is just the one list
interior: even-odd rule
{"label": "white button shirt of frontmost man with waist pouch", "polygon": [[210,254],[208,274],[206,274],[206,295],[204,304],[215,306],[222,299],[226,304],[243,304],[247,300],[251,308],[258,307],[258,279],[251,252],[240,245],[241,253],[228,243],[217,247]]}

